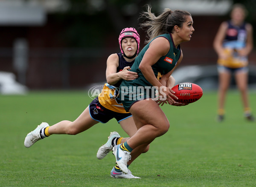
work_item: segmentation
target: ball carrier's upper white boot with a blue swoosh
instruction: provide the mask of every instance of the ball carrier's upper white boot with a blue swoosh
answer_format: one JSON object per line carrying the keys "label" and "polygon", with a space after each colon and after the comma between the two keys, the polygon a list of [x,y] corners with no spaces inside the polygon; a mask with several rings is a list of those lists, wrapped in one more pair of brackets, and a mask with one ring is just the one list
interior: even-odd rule
{"label": "ball carrier's upper white boot with a blue swoosh", "polygon": [[123,151],[120,144],[113,147],[113,155],[116,157],[116,164],[123,173],[128,174],[127,162],[131,160],[131,152]]}

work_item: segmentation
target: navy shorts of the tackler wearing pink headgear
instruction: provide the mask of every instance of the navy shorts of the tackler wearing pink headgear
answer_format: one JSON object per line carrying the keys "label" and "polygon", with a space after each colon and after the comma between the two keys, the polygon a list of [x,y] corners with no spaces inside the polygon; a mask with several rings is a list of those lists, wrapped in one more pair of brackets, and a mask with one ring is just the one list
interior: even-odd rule
{"label": "navy shorts of the tackler wearing pink headgear", "polygon": [[99,103],[98,97],[93,99],[93,101],[89,104],[89,111],[91,118],[103,124],[107,123],[113,118],[116,118],[116,121],[119,123],[120,121],[131,117],[131,113],[119,113],[106,109]]}

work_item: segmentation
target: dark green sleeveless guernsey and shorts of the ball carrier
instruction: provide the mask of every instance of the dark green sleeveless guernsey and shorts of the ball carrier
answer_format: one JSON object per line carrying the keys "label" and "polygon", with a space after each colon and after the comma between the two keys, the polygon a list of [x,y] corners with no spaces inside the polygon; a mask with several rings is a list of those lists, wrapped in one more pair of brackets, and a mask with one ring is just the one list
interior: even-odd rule
{"label": "dark green sleeveless guernsey and shorts of the ball carrier", "polygon": [[[177,61],[180,58],[181,50],[180,46],[175,48],[172,35],[170,33],[159,35],[157,37],[165,37],[167,40],[169,40],[170,43],[170,49],[167,55],[161,57],[157,63],[155,63],[152,67],[154,71],[155,77],[160,80],[160,78],[170,72],[175,65],[177,64]],[[155,38],[157,38],[155,37]],[[154,38],[154,39],[155,39]],[[153,40],[154,40],[153,39]],[[151,40],[152,42],[152,40]],[[150,43],[151,43],[150,42]],[[150,45],[148,43],[140,52],[140,54],[135,59],[135,62],[133,66],[131,66],[131,71],[137,72],[139,77],[132,81],[125,81],[123,80],[120,85],[120,98],[122,100],[123,106],[126,111],[129,110],[131,105],[139,100],[143,100],[146,98],[151,98],[152,94],[154,94],[154,91],[151,89],[148,89],[151,87],[151,83],[149,83],[146,78],[143,76],[143,73],[140,71],[139,66],[140,62],[143,59],[143,56],[145,52],[148,50],[148,47]],[[144,88],[144,89],[142,89]]]}

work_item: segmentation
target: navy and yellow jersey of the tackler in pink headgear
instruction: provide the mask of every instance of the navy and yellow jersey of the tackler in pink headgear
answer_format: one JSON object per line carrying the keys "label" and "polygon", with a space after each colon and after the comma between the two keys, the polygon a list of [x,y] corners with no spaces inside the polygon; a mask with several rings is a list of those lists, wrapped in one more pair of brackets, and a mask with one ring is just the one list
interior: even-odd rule
{"label": "navy and yellow jersey of the tackler in pink headgear", "polygon": [[[132,62],[127,62],[123,58],[122,53],[117,53],[117,55],[119,57],[119,65],[116,68],[116,72],[122,71],[126,66],[131,67],[133,65],[134,60]],[[125,111],[119,98],[119,86],[121,82],[122,80],[118,81],[114,85],[109,85],[108,83],[105,83],[102,92],[98,96],[99,103],[106,109],[112,110],[114,112],[129,113]]]}

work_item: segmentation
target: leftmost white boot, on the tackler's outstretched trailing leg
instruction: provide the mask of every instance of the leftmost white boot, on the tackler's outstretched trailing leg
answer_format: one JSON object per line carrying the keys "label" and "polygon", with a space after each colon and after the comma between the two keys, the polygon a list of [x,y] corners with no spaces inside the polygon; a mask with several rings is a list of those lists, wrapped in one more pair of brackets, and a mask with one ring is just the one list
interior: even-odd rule
{"label": "leftmost white boot, on the tackler's outstretched trailing leg", "polygon": [[29,132],[28,135],[26,135],[26,138],[24,141],[25,147],[29,148],[33,144],[35,144],[35,142],[37,142],[38,140],[44,139],[44,137],[42,135],[40,135],[40,131],[42,128],[45,128],[48,126],[49,126],[49,124],[43,122],[40,125],[38,125],[38,127],[36,127],[35,130]]}

